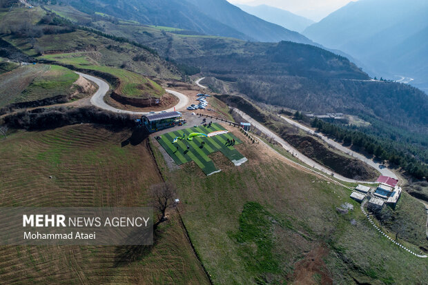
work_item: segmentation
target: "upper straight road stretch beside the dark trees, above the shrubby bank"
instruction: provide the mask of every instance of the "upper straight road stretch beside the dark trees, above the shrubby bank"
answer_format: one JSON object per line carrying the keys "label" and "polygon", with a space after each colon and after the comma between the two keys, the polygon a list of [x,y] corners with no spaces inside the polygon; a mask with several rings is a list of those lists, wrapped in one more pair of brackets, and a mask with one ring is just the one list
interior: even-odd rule
{"label": "upper straight road stretch beside the dark trees, above the shrubby bank", "polygon": [[325,141],[327,144],[329,144],[330,146],[333,146],[333,148],[337,148],[338,150],[342,151],[343,153],[347,153],[348,155],[351,155],[351,156],[355,157],[356,159],[360,159],[360,161],[362,161],[366,164],[369,164],[369,166],[378,170],[382,175],[389,176],[389,177],[392,177],[394,179],[398,179],[397,175],[395,173],[393,173],[391,170],[389,170],[385,166],[382,166],[382,168],[380,168],[381,164],[376,163],[372,159],[368,159],[367,157],[364,157],[364,155],[360,155],[360,153],[356,153],[355,151],[350,150],[349,148],[345,148],[344,146],[342,146],[338,142],[333,141],[333,139],[329,139],[328,137],[326,137],[326,136],[324,136],[318,132],[315,132],[315,130],[308,128],[307,126],[304,126],[304,125],[298,123],[297,121],[293,121],[292,119],[289,119],[289,118],[283,117],[283,116],[280,116],[280,117],[282,119],[284,119],[287,123],[289,123],[295,127],[298,127],[300,129],[304,130],[305,132],[309,132],[311,135],[317,135],[318,137],[320,137],[320,139]]}

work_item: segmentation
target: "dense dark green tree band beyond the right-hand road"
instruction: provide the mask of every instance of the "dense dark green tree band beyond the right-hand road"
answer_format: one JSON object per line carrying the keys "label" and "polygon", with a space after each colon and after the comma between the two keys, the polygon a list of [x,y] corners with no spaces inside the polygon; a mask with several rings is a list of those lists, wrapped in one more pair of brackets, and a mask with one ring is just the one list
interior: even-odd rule
{"label": "dense dark green tree band beyond the right-hand road", "polygon": [[325,135],[342,141],[344,144],[352,144],[365,150],[369,155],[374,155],[378,159],[387,160],[391,164],[400,166],[408,175],[416,179],[423,179],[424,177],[428,179],[428,167],[426,164],[422,164],[414,156],[402,150],[396,150],[387,141],[377,139],[358,130],[347,130],[317,118],[313,119],[311,126]]}

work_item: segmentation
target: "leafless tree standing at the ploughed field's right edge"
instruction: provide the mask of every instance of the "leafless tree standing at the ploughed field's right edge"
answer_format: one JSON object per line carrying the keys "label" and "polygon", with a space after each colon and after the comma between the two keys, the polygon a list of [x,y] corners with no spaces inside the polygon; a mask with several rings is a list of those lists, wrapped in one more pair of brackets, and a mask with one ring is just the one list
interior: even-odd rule
{"label": "leafless tree standing at the ploughed field's right edge", "polygon": [[166,221],[166,210],[174,204],[175,188],[170,182],[165,182],[151,186],[150,190],[153,197],[153,206],[158,211],[158,220],[153,225],[156,228],[160,223]]}

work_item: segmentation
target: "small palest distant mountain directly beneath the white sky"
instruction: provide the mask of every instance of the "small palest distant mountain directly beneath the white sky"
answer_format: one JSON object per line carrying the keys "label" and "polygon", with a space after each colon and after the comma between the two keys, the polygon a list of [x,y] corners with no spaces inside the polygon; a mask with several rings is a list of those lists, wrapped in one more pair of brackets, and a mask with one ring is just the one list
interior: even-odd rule
{"label": "small palest distant mountain directly beneath the white sky", "polygon": [[249,14],[254,15],[255,17],[275,23],[289,30],[295,30],[296,32],[303,32],[305,28],[315,23],[311,19],[307,19],[297,14],[293,14],[287,10],[282,10],[272,6],[248,6],[242,4],[236,4],[235,6],[241,8]]}

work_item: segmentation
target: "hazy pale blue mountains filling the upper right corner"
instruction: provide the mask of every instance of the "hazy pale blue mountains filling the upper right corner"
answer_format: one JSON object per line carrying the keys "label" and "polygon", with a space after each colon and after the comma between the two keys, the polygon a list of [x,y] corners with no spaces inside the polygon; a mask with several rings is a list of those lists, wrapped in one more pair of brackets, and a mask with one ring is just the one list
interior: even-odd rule
{"label": "hazy pale blue mountains filling the upper right corner", "polygon": [[314,23],[303,34],[349,53],[371,75],[414,79],[428,92],[428,1],[360,0]]}

